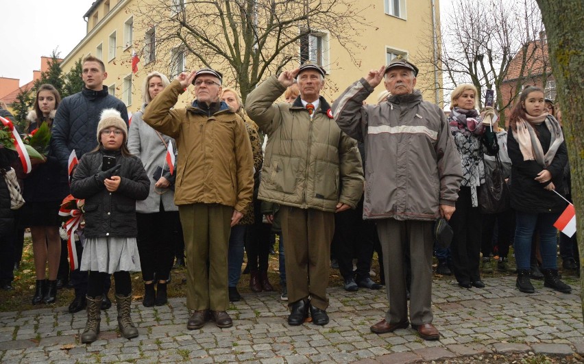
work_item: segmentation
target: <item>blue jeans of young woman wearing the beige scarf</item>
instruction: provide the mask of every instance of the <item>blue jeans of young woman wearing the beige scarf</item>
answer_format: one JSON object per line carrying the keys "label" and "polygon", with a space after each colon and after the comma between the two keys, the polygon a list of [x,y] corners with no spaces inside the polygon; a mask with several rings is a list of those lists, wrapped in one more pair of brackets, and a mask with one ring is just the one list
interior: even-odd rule
{"label": "blue jeans of young woman wearing the beige scarf", "polygon": [[559,213],[529,213],[516,211],[515,261],[517,268],[530,269],[531,241],[533,233],[539,232],[539,252],[542,268],[557,269],[557,229],[553,226]]}

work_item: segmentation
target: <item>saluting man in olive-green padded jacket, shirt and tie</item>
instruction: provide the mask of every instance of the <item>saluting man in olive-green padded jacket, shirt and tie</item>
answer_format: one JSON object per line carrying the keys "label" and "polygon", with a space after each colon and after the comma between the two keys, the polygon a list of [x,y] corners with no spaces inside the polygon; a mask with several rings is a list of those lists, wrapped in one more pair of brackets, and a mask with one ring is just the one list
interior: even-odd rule
{"label": "saluting man in olive-green padded jacket, shirt and tie", "polygon": [[[334,213],[363,193],[357,144],[337,127],[320,96],[325,70],[305,63],[272,76],[247,96],[247,114],[268,135],[258,198],[280,204],[290,325],[328,323],[328,264]],[[292,105],[274,103],[298,83]]]}

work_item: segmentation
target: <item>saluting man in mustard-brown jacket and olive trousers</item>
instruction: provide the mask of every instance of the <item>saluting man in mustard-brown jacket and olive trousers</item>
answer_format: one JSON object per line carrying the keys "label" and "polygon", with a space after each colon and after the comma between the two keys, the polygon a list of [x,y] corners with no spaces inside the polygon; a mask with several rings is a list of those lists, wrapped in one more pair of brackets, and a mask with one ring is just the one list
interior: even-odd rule
{"label": "saluting man in mustard-brown jacket and olive trousers", "polygon": [[[252,202],[254,161],[243,119],[219,100],[222,75],[211,68],[181,73],[148,105],[144,121],[176,140],[175,204],[186,248],[186,327],[212,319],[232,326],[228,298],[231,226]],[[196,99],[173,109],[191,83]]]}

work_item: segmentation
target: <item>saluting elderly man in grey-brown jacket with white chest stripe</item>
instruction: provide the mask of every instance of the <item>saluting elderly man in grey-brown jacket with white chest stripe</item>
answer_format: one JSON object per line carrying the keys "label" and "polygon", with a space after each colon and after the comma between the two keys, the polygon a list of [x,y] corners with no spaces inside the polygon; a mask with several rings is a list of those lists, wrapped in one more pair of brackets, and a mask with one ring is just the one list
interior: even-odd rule
{"label": "saluting elderly man in grey-brown jacket with white chest stripe", "polygon": [[[363,218],[378,219],[389,310],[371,326],[374,333],[407,328],[408,307],[404,260],[411,257],[410,320],[426,340],[439,339],[433,326],[433,222],[450,219],[462,179],[461,160],[448,121],[433,103],[414,90],[418,69],[394,59],[370,70],[332,105],[341,130],[365,142],[365,203]],[[385,77],[391,92],[380,105],[363,101]]]}

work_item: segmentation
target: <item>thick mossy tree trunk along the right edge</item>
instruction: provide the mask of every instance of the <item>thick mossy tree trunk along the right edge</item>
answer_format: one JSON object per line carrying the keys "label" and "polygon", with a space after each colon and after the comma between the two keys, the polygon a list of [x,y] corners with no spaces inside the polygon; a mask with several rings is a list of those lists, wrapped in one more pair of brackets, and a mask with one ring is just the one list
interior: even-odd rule
{"label": "thick mossy tree trunk along the right edge", "polygon": [[[584,263],[584,7],[582,0],[537,0],[548,36],[572,170],[580,266]],[[562,191],[559,191],[562,192]],[[584,274],[580,278],[584,321]]]}

